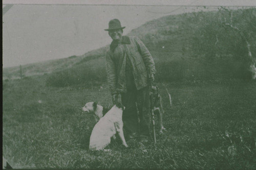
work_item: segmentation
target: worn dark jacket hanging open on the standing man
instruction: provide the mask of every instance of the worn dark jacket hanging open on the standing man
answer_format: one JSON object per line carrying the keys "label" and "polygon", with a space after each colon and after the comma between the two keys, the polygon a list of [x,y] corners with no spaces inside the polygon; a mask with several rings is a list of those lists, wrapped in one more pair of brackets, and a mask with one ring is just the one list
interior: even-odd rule
{"label": "worn dark jacket hanging open on the standing man", "polygon": [[111,94],[126,92],[125,63],[129,59],[136,88],[139,90],[148,85],[147,75],[149,69],[155,75],[155,63],[146,46],[137,37],[122,37],[122,42],[111,44],[106,53],[106,74]]}

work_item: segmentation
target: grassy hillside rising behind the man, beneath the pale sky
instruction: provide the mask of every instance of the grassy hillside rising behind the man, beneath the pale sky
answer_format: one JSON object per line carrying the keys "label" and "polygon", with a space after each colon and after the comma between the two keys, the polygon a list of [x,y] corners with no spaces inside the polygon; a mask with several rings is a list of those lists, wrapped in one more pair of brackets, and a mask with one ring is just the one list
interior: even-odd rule
{"label": "grassy hillside rising behind the man, beneath the pale sky", "polygon": [[[247,67],[251,61],[246,56],[246,43],[240,32],[225,24],[232,23],[241,30],[254,57],[255,18],[255,9],[184,13],[146,22],[127,35],[138,36],[150,50],[157,67],[157,81],[248,78]],[[26,65],[23,73],[30,76],[52,72],[47,84],[54,86],[86,83],[88,79],[102,82],[105,81],[107,48],[82,56]],[[19,67],[6,68],[3,72],[3,77],[18,77]]]}

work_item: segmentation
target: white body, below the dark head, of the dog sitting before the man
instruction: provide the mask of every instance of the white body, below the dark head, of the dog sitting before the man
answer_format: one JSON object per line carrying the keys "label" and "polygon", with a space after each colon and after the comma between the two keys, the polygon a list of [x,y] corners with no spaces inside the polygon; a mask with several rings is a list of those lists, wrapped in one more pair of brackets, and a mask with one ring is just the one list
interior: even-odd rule
{"label": "white body, below the dark head, of the dog sitting before the man", "polygon": [[114,105],[94,126],[90,137],[90,150],[103,150],[110,144],[111,137],[119,134],[122,144],[128,147],[123,135],[122,113],[124,107]]}

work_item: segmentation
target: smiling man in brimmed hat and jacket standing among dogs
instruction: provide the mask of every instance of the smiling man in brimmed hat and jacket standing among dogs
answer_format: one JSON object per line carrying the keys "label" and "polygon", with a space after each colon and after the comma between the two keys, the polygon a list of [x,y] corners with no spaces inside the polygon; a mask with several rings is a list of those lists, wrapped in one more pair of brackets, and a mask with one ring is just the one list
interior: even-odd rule
{"label": "smiling man in brimmed hat and jacket standing among dogs", "polygon": [[139,134],[141,140],[147,141],[151,136],[148,82],[154,81],[155,63],[139,38],[122,36],[124,28],[118,19],[113,19],[105,29],[113,39],[105,56],[106,74],[113,104],[121,102],[125,106],[124,129],[130,137]]}

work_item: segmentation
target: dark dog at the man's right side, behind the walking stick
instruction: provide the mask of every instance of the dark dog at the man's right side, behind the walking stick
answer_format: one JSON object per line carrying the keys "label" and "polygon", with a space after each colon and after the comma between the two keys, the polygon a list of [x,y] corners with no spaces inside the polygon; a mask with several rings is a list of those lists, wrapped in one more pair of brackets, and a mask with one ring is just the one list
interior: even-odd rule
{"label": "dark dog at the man's right side, behind the walking stick", "polygon": [[152,86],[152,95],[153,95],[153,106],[154,106],[154,114],[158,114],[159,117],[159,126],[160,131],[159,133],[163,133],[165,128],[163,127],[163,102],[161,95],[159,93],[158,86]]}

